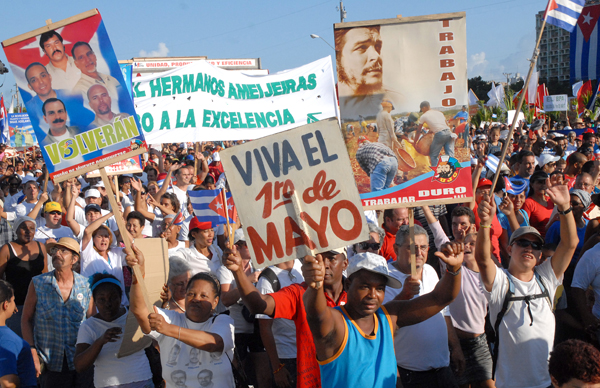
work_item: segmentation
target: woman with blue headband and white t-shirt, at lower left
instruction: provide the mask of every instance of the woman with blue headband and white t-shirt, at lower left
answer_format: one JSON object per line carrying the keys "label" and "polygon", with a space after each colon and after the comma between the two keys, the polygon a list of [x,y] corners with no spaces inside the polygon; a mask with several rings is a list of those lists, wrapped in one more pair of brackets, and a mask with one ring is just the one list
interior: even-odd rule
{"label": "woman with blue headband and white t-shirt, at lower left", "polygon": [[75,369],[81,373],[94,365],[94,386],[153,388],[152,372],[144,350],[117,358],[127,322],[121,305],[121,283],[112,275],[97,273],[91,281],[98,314],[79,327]]}

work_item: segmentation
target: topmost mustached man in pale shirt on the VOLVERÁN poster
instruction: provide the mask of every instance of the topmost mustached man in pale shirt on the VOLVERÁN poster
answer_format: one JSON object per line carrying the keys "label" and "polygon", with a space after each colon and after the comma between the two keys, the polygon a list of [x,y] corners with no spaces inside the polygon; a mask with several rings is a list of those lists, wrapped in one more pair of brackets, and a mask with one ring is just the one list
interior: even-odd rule
{"label": "topmost mustached man in pale shirt on the VOLVER\u00c1N poster", "polygon": [[75,66],[73,58],[65,52],[63,38],[56,31],[44,32],[40,35],[40,47],[50,59],[46,66],[48,74],[56,89],[73,89],[81,76],[81,71]]}

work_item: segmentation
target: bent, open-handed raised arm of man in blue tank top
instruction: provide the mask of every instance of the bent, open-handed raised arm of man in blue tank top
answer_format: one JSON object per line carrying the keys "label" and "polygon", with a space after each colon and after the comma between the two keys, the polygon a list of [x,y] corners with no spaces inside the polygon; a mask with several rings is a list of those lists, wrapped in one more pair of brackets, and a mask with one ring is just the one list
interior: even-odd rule
{"label": "bent, open-handed raised arm of man in blue tank top", "polygon": [[432,292],[411,300],[392,300],[386,303],[392,322],[398,327],[423,322],[442,311],[460,291],[464,244],[444,244],[435,255],[446,263],[446,272]]}

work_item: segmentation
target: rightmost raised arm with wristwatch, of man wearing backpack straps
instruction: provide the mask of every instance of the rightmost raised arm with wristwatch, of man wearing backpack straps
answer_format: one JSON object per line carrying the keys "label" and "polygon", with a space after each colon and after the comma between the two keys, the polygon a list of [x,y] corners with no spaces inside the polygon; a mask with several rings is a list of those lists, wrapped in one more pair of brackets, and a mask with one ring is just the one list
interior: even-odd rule
{"label": "rightmost raised arm with wristwatch, of man wearing backpack straps", "polygon": [[[563,184],[562,176],[554,175],[548,178],[546,185],[548,186],[546,193],[550,196],[552,202],[554,202],[554,206],[558,208],[560,219],[560,242],[551,258],[554,274],[557,278],[560,278],[567,270],[573,258],[573,254],[579,243],[579,237],[577,237],[575,217],[573,217],[573,212],[571,211],[569,188],[566,184]],[[561,214],[567,210],[568,214]]]}

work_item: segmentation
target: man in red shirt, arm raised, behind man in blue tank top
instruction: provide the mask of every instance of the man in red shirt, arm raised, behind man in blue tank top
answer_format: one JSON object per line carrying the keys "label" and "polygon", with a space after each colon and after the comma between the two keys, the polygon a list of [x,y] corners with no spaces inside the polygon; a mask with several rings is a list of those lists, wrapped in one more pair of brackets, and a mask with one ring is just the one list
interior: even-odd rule
{"label": "man in red shirt, arm raised, behind man in blue tank top", "polygon": [[[323,292],[329,307],[346,304],[346,292],[342,284],[342,273],[348,267],[348,259],[343,251],[322,253],[325,266]],[[281,290],[262,295],[244,274],[241,257],[235,246],[223,253],[225,266],[233,272],[244,304],[252,314],[265,314],[272,318],[291,319],[296,324],[296,363],[298,369],[297,386],[320,388],[321,374],[317,363],[316,350],[308,322],[302,296],[308,288],[306,283],[292,284]],[[282,364],[279,368],[284,368]],[[278,373],[277,369],[274,373]]]}

